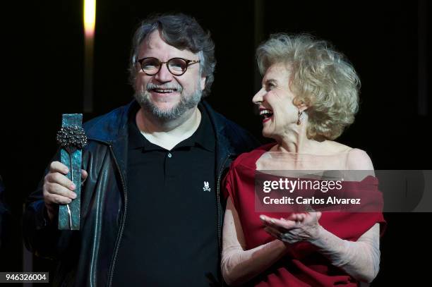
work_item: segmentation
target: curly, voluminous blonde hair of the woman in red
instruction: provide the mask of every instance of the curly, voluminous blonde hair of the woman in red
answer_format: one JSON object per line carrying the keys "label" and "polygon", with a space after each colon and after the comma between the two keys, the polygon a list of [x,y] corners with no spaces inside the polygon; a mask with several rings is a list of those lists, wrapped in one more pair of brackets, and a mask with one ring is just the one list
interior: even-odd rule
{"label": "curly, voluminous blonde hair of the woman in red", "polygon": [[329,46],[311,35],[275,34],[256,51],[261,74],[275,63],[287,65],[294,104],[308,106],[307,136],[319,141],[339,137],[359,109],[359,77]]}

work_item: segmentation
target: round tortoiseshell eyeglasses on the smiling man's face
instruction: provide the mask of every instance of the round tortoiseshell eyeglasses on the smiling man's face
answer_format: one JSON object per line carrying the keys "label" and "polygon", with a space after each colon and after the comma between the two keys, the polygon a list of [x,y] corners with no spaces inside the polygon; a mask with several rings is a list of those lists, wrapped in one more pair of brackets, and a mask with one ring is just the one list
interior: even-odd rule
{"label": "round tortoiseshell eyeglasses on the smiling man's face", "polygon": [[167,68],[169,73],[173,75],[183,75],[186,73],[189,65],[193,63],[200,63],[200,60],[188,60],[183,58],[172,58],[166,62],[159,61],[157,58],[149,57],[139,59],[137,61],[141,65],[141,69],[145,73],[145,75],[156,75],[160,71],[160,67],[162,64],[167,64]]}

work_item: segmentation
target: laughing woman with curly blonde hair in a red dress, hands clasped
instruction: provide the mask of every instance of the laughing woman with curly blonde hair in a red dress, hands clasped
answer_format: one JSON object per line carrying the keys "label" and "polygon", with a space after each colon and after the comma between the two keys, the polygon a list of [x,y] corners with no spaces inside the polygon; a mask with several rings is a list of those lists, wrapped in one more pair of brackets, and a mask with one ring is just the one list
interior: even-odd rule
{"label": "laughing woman with curly blonde hair in a red dress, hands clasped", "polygon": [[[308,35],[272,35],[258,47],[253,97],[275,143],[241,154],[225,178],[222,274],[232,286],[359,286],[379,269],[379,212],[255,212],[256,170],[371,170],[366,152],[333,140],[354,121],[359,78],[342,54]],[[268,160],[277,152],[283,161]],[[297,160],[307,154],[313,160]],[[312,156],[313,155],[313,156]],[[376,178],[368,177],[373,187]],[[362,182],[364,183],[364,182]],[[281,218],[282,217],[282,218]]]}

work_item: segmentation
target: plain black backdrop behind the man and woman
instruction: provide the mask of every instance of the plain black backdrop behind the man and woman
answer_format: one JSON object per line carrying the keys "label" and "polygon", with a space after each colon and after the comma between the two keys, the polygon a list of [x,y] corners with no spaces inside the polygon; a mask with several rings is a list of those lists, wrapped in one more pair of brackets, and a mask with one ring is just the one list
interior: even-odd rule
{"label": "plain black backdrop behind the man and woman", "polygon": [[[83,112],[81,1],[16,3],[1,11],[0,175],[11,216],[0,271],[23,270],[21,214],[56,150],[61,114]],[[131,37],[155,12],[194,16],[216,44],[208,102],[261,138],[251,98],[258,90],[254,51],[272,32],[310,32],[342,51],[359,73],[361,109],[338,141],[366,150],[376,169],[431,169],[431,4],[424,1],[97,1],[94,109],[84,120],[132,99]],[[428,190],[431,192],[431,190]],[[385,214],[380,274],[373,286],[426,281],[431,214]],[[33,258],[35,271],[52,264]]]}

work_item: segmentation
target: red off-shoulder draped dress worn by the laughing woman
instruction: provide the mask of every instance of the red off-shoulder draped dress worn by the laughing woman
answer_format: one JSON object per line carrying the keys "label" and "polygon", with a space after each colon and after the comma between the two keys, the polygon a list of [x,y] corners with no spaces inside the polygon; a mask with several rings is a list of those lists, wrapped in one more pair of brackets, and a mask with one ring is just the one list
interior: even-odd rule
{"label": "red off-shoulder draped dress worn by the laughing woman", "polygon": [[[233,162],[224,181],[224,196],[231,197],[239,214],[247,250],[275,240],[264,231],[263,223],[259,219],[260,214],[275,218],[287,217],[287,213],[255,211],[256,161],[263,153],[268,152],[272,145],[274,144],[241,154]],[[373,176],[364,178],[358,184],[362,190],[366,187],[369,192],[379,193],[378,180]],[[380,212],[323,212],[320,218],[323,228],[351,241],[356,241],[376,223],[380,223],[380,230],[383,231],[385,220]],[[246,286],[358,286],[358,283],[342,269],[332,266],[311,243],[300,242],[292,245],[284,258]]]}

